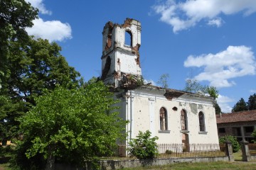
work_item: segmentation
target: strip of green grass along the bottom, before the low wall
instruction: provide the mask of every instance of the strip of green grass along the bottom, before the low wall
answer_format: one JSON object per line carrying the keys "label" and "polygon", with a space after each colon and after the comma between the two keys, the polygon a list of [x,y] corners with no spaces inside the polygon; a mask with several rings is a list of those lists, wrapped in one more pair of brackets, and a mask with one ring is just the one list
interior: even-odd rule
{"label": "strip of green grass along the bottom, before the low wall", "polygon": [[138,168],[127,168],[123,170],[198,170],[198,169],[225,169],[225,170],[253,170],[256,169],[256,162],[202,162],[202,163],[178,163],[163,166],[145,166]]}

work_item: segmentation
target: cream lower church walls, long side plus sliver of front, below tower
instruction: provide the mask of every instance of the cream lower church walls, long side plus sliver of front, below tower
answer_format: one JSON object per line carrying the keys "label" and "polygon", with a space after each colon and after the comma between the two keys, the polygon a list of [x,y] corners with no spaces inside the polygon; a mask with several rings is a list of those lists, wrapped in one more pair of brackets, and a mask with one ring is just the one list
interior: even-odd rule
{"label": "cream lower church walls, long side plus sliver of front, below tower", "polygon": [[[211,98],[183,94],[171,101],[164,96],[164,89],[154,86],[141,86],[127,92],[122,91],[120,116],[129,120],[127,125],[128,140],[138,135],[139,130],[149,130],[152,136],[159,137],[159,144],[181,144],[182,134],[188,134],[190,144],[218,144],[218,132],[215,108]],[[125,107],[124,107],[125,106]],[[160,130],[160,108],[167,111],[167,130]],[[174,111],[173,108],[177,110]],[[187,113],[188,129],[181,130],[181,110]],[[198,113],[205,115],[206,130],[199,130]]]}

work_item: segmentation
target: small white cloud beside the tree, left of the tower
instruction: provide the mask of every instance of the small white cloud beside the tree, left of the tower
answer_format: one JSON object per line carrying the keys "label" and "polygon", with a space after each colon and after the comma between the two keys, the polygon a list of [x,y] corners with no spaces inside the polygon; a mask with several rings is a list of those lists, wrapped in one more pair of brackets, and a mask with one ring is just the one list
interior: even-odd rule
{"label": "small white cloud beside the tree, left of the tower", "polygon": [[63,41],[72,38],[71,27],[68,23],[60,21],[43,21],[42,18],[33,21],[32,28],[26,28],[28,35],[52,41]]}

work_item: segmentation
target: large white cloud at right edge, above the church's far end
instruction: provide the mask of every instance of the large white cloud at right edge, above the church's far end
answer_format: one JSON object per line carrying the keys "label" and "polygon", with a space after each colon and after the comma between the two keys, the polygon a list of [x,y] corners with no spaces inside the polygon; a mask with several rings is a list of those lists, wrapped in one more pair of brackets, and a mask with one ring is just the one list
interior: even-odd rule
{"label": "large white cloud at right edge, above the church's far end", "polygon": [[203,67],[203,72],[193,77],[198,81],[210,81],[218,88],[233,86],[235,77],[256,74],[256,62],[252,49],[246,46],[229,46],[217,54],[188,56],[185,67]]}

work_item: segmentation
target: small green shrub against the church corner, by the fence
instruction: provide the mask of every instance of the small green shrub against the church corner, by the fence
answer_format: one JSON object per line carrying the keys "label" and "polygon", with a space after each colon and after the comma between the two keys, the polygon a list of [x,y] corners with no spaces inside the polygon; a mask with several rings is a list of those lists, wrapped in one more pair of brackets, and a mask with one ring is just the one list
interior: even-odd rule
{"label": "small green shrub against the church corner, by the fence", "polygon": [[151,137],[149,130],[139,131],[137,138],[129,142],[130,147],[127,150],[137,159],[153,159],[158,154],[156,140],[158,137]]}

